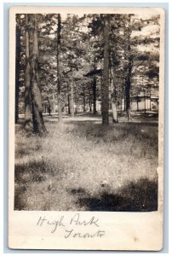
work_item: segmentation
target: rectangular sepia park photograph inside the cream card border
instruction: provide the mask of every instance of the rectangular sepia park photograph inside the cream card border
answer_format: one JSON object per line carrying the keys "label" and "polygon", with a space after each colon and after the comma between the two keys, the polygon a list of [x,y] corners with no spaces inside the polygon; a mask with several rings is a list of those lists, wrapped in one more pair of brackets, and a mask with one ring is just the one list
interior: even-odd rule
{"label": "rectangular sepia park photograph inside the cream card border", "polygon": [[158,209],[159,15],[16,15],[15,210]]}

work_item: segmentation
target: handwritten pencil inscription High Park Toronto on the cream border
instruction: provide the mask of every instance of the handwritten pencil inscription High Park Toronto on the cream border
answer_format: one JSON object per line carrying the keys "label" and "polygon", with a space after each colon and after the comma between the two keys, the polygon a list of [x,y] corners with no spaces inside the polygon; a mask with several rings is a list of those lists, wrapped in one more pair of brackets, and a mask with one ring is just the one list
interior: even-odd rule
{"label": "handwritten pencil inscription High Park Toronto on the cream border", "polygon": [[[95,216],[92,216],[91,218],[85,219],[81,217],[80,213],[76,213],[72,216],[72,218],[65,218],[65,216],[62,215],[60,216],[60,218],[54,220],[50,220],[45,216],[40,216],[40,218],[38,218],[37,220],[37,226],[43,227],[45,225],[50,227],[51,233],[54,233],[58,229],[63,228],[65,238],[93,238],[105,236],[105,231],[98,229],[100,228],[99,218],[95,218]],[[79,227],[81,227],[82,231],[78,232]],[[91,230],[93,231],[88,232],[82,227],[92,227]]]}

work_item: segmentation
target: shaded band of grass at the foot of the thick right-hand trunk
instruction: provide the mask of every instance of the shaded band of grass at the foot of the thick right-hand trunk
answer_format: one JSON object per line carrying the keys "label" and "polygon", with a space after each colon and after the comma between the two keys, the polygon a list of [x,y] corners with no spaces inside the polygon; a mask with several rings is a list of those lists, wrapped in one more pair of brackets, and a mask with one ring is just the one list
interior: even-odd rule
{"label": "shaded band of grass at the foot of the thick right-hand trunk", "polygon": [[87,137],[89,140],[100,139],[105,143],[120,142],[127,138],[133,142],[151,142],[158,145],[158,124],[150,123],[118,123],[116,125],[103,126],[90,121],[70,121],[73,125],[72,132],[77,137]]}

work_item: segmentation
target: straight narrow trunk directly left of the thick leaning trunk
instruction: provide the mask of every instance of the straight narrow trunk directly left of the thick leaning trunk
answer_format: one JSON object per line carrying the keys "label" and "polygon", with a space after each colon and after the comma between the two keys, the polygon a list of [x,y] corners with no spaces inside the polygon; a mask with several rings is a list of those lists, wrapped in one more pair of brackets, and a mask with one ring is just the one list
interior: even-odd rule
{"label": "straight narrow trunk directly left of the thick leaning trunk", "polygon": [[29,15],[26,15],[25,128],[32,131],[31,76],[29,60]]}

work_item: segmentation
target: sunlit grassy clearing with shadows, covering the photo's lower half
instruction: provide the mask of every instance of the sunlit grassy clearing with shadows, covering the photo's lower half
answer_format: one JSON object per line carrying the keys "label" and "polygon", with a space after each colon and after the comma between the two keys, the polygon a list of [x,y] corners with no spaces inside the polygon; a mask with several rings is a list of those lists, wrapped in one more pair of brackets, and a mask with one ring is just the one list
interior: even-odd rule
{"label": "sunlit grassy clearing with shadows, covering the photo's lower half", "polygon": [[15,126],[15,210],[157,210],[158,123],[44,119],[46,137]]}

